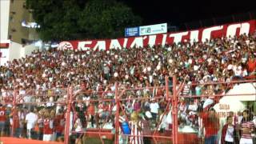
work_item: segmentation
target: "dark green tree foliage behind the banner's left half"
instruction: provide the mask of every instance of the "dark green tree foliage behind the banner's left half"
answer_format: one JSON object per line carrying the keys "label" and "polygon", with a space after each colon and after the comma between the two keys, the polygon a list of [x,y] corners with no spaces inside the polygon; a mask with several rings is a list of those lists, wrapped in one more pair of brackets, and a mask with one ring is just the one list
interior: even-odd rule
{"label": "dark green tree foliage behind the banner's left half", "polygon": [[42,40],[122,37],[124,28],[142,19],[115,0],[26,0]]}

